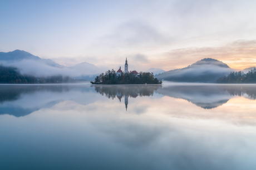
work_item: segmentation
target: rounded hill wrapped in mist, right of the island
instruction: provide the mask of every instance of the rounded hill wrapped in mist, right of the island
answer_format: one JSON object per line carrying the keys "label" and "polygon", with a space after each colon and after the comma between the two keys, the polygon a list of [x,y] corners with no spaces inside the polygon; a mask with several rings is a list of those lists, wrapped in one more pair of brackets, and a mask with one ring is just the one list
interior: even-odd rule
{"label": "rounded hill wrapped in mist, right of the island", "polygon": [[157,79],[164,79],[178,82],[202,82],[213,83],[218,78],[227,76],[230,71],[229,66],[221,61],[205,58],[182,69],[175,69],[158,74]]}

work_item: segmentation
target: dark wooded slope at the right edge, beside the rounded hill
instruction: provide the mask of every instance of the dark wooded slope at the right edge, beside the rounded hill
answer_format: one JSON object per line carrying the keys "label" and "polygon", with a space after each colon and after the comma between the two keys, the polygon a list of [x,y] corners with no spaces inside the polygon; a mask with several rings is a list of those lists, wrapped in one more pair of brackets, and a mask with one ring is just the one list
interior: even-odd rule
{"label": "dark wooded slope at the right edge, beside the rounded hill", "polygon": [[216,83],[256,83],[256,68],[244,74],[242,71],[232,72],[216,80]]}

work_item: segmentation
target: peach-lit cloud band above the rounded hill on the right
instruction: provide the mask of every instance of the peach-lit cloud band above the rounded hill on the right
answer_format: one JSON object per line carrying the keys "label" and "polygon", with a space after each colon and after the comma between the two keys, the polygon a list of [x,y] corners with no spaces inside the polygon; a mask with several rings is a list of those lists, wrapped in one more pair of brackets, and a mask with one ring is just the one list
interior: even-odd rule
{"label": "peach-lit cloud band above the rounded hill on the right", "polygon": [[163,64],[165,70],[184,68],[198,60],[213,58],[233,69],[256,65],[256,40],[236,40],[219,47],[180,48],[159,54],[163,58],[155,64]]}

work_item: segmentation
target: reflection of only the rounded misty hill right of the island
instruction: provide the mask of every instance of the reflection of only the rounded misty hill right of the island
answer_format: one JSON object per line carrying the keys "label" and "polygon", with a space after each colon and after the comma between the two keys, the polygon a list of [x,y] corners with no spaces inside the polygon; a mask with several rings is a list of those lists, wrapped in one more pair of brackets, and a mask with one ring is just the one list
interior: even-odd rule
{"label": "reflection of only the rounded misty hill right of the island", "polygon": [[232,98],[229,92],[214,85],[180,85],[168,86],[157,90],[160,94],[185,99],[204,109],[213,109]]}

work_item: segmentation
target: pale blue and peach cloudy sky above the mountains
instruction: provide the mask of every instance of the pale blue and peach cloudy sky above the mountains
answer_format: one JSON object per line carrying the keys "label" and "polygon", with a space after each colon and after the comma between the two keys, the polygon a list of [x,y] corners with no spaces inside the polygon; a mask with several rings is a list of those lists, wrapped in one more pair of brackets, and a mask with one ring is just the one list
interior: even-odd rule
{"label": "pale blue and peach cloudy sky above the mountains", "polygon": [[73,66],[165,71],[214,58],[256,66],[256,1],[0,1],[0,51]]}

